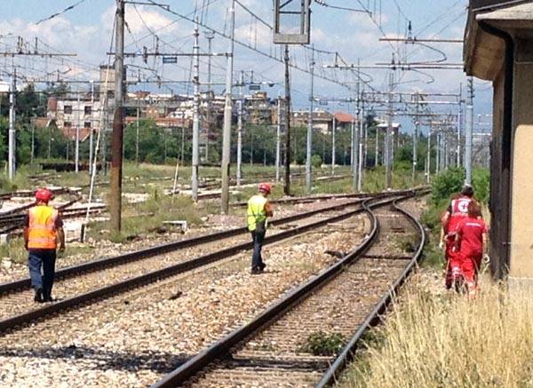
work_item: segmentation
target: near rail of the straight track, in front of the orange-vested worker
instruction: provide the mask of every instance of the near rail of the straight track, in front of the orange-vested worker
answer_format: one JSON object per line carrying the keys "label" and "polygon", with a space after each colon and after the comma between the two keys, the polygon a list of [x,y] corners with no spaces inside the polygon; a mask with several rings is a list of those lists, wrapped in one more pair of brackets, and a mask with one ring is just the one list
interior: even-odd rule
{"label": "near rail of the straight track, in front of the orange-vested worker", "polygon": [[[388,200],[388,202],[391,201],[392,200]],[[274,242],[280,242],[282,240],[289,239],[290,237],[293,237],[295,235],[304,234],[309,230],[313,230],[321,226],[326,226],[330,223],[335,223],[346,218],[354,217],[355,215],[365,211],[364,206],[365,205],[363,204],[363,207],[360,209],[348,211],[338,216],[325,218],[311,224],[297,226],[288,231],[268,236],[265,239],[264,243],[265,245],[267,245]],[[119,281],[114,284],[101,287],[99,289],[93,289],[84,294],[76,295],[74,297],[68,297],[67,299],[60,300],[59,302],[53,303],[51,305],[44,305],[43,307],[33,311],[20,313],[19,315],[15,315],[3,321],[0,321],[0,333],[3,333],[9,329],[13,329],[17,326],[25,325],[36,320],[47,318],[53,313],[59,313],[67,309],[73,309],[79,305],[89,305],[101,298],[115,296],[116,294],[123,293],[129,289],[136,289],[151,282],[159,281],[179,273],[186,273],[205,265],[210,265],[211,263],[220,261],[224,258],[235,256],[236,254],[242,252],[245,249],[251,249],[252,246],[252,242],[243,242],[227,249],[221,249],[217,252],[209,253],[200,257],[195,257],[183,263],[166,266],[162,269],[155,270],[150,273],[131,277],[130,279],[127,279],[125,281]]]}

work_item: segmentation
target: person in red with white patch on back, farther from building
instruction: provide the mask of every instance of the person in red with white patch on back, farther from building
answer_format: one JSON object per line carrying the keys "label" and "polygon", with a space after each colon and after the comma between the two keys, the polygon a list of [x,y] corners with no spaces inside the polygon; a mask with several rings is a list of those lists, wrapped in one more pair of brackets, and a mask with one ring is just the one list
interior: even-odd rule
{"label": "person in red with white patch on back, farther from building", "polygon": [[441,246],[444,243],[446,245],[445,257],[446,257],[446,289],[451,289],[454,283],[454,274],[451,268],[451,262],[456,256],[455,251],[455,230],[457,224],[468,215],[468,204],[473,198],[473,187],[466,185],[460,194],[452,196],[449,207],[446,213],[441,218],[442,226],[446,232],[444,241],[441,242]]}

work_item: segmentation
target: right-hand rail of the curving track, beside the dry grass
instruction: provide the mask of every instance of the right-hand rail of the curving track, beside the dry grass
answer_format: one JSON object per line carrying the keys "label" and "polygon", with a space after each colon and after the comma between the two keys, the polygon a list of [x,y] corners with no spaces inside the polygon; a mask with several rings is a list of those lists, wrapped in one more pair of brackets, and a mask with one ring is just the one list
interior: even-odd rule
{"label": "right-hand rail of the curving track, beside the dry grass", "polygon": [[337,359],[331,364],[330,368],[324,373],[322,379],[318,384],[317,388],[323,388],[331,384],[335,384],[338,380],[339,373],[346,366],[346,363],[354,358],[354,353],[357,348],[357,344],[361,341],[362,336],[366,333],[368,329],[373,326],[376,326],[379,322],[382,321],[381,317],[383,313],[386,312],[388,305],[393,301],[394,296],[397,294],[398,289],[402,287],[402,284],[407,280],[410,273],[413,272],[415,267],[418,265],[418,261],[422,257],[422,252],[426,245],[426,232],[424,227],[418,222],[417,218],[414,218],[409,212],[403,210],[398,206],[396,201],[393,202],[394,209],[401,212],[404,216],[409,218],[410,222],[418,229],[420,233],[420,242],[418,243],[418,249],[413,254],[409,265],[405,267],[400,277],[394,281],[392,289],[386,293],[384,297],[378,302],[374,309],[367,315],[365,320],[362,322],[362,325],[357,329],[354,334],[354,337],[348,341],[343,350],[339,353]]}

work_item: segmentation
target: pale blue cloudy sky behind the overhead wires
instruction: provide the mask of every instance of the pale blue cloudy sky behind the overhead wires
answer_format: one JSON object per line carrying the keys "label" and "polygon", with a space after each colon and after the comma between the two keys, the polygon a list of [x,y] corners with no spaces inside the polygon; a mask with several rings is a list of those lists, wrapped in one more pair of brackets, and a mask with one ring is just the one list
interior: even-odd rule
{"label": "pale blue cloudy sky behind the overhead wires", "polygon": [[[140,3],[152,1],[145,0]],[[393,52],[396,60],[426,61],[444,59],[445,56],[447,63],[462,63],[462,44],[433,44],[431,48],[427,48],[413,44],[379,42],[379,38],[405,37],[410,23],[411,35],[418,38],[461,39],[465,30],[465,0],[322,0],[322,3],[329,6],[314,3],[312,7],[311,43],[318,51],[324,51],[315,54],[315,98],[354,97],[354,72],[326,68],[335,63],[334,52],[338,52],[338,58],[344,59],[347,64],[357,64],[359,60],[362,67],[390,63]],[[60,72],[60,76],[65,79],[96,79],[95,70],[109,60],[106,53],[112,44],[114,0],[4,0],[3,4],[3,13],[0,15],[0,50],[12,49],[17,36],[22,36],[25,42],[31,42],[32,47],[38,37],[38,47],[41,51],[76,53],[74,58],[16,59],[20,71],[26,72],[28,76],[53,79],[57,78]],[[71,10],[48,19],[75,4]],[[143,46],[147,47],[147,51],[155,51],[155,42],[158,40],[159,52],[191,52],[194,24],[180,16],[188,19],[197,16],[203,24],[200,28],[200,50],[203,52],[207,52],[205,32],[209,28],[228,34],[228,0],[166,0],[161,4],[169,5],[171,12],[155,5],[126,5],[125,51],[139,53]],[[352,10],[339,10],[334,8],[335,6]],[[370,12],[358,12],[363,9],[370,11],[371,15]],[[282,58],[282,47],[272,43],[272,31],[268,27],[272,20],[270,0],[237,0],[234,77],[238,78],[243,70],[246,81],[251,82],[253,72],[255,82],[274,83],[272,87],[264,85],[263,90],[275,97],[283,93],[283,65],[280,60],[275,60]],[[227,52],[229,41],[224,36],[216,35],[212,40],[212,50]],[[330,53],[325,53],[326,51]],[[291,46],[291,63],[307,69],[310,52],[302,47]],[[147,64],[140,58],[128,59],[127,63],[130,65],[130,78],[140,75],[143,79],[155,81],[160,77],[166,81],[161,88],[152,83],[145,84],[139,87],[140,89],[162,93],[191,91],[190,84],[170,83],[190,79],[189,58],[180,57],[176,65],[163,65],[161,59],[152,58],[148,59]],[[4,70],[0,77],[6,78],[12,65],[12,59],[0,59],[0,69]],[[225,81],[226,67],[225,58],[212,59],[212,82],[217,84],[217,91],[223,89],[221,84]],[[362,72],[362,78],[369,81],[363,86],[365,90],[387,90],[387,70],[364,69]],[[425,70],[425,73],[397,71],[396,90],[457,93],[462,83],[465,91],[466,78],[461,70]],[[322,77],[329,78],[330,81]],[[200,79],[201,83],[206,83],[206,57],[201,60]],[[351,89],[346,88],[346,85]],[[474,85],[475,115],[482,115],[481,121],[487,122],[484,117],[491,112],[490,84],[476,80]],[[310,75],[292,69],[291,87],[294,107],[306,108],[310,93]],[[321,107],[331,111],[354,110],[353,106],[341,104],[330,102]],[[450,108],[442,107],[440,111],[442,109],[449,111]],[[397,120],[404,127],[412,126],[410,119],[398,117]],[[481,129],[486,125],[478,126]]]}

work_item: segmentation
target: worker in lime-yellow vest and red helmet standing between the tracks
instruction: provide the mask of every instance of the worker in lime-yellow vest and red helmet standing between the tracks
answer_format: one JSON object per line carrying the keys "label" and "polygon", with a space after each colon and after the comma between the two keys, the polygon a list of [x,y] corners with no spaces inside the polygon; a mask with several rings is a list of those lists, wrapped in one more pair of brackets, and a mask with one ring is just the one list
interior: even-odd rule
{"label": "worker in lime-yellow vest and red helmet standing between the tracks", "polygon": [[248,230],[251,232],[253,241],[253,254],[251,256],[251,274],[259,274],[265,270],[265,263],[261,257],[261,249],[267,234],[267,218],[274,214],[268,202],[268,195],[272,187],[267,183],[259,185],[259,194],[251,197],[248,201]]}

